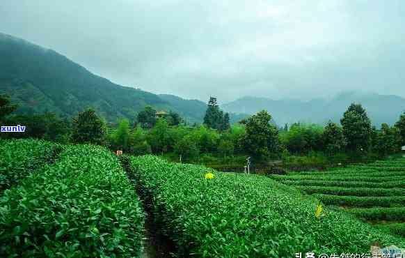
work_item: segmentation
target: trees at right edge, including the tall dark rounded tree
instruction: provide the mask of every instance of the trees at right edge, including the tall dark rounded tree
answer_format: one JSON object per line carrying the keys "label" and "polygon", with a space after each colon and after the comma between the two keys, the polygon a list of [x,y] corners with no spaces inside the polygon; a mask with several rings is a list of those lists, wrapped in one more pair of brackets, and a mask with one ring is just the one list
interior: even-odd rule
{"label": "trees at right edge, including the tall dark rounded tree", "polygon": [[377,130],[359,104],[351,104],[344,112],[341,125],[329,121],[324,128],[318,125],[295,123],[281,132],[281,142],[291,153],[305,154],[323,151],[328,155],[349,153],[365,155],[396,153],[405,144],[405,112],[395,126],[383,123]]}

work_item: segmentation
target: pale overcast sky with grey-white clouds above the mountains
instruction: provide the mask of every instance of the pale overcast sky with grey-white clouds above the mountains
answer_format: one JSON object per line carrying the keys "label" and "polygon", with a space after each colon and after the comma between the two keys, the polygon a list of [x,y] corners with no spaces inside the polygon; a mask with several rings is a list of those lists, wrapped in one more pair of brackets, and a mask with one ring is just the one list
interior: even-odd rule
{"label": "pale overcast sky with grey-white clouds above the mountains", "polygon": [[1,0],[0,32],[153,93],[405,96],[405,1]]}

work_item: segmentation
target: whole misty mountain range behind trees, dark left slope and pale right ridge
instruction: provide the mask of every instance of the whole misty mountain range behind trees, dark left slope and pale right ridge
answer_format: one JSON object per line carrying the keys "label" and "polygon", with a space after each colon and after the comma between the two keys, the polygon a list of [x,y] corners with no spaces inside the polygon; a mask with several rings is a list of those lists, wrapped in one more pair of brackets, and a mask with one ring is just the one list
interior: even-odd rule
{"label": "whole misty mountain range behind trees, dark left slope and pale right ridge", "polygon": [[[178,112],[189,123],[202,123],[207,109],[207,103],[200,100],[114,84],[54,50],[3,33],[0,33],[0,93],[10,95],[19,105],[17,114],[55,112],[71,117],[86,107],[94,107],[112,123],[120,118],[134,121],[145,105]],[[283,126],[296,121],[339,122],[353,102],[361,103],[378,127],[381,123],[392,125],[405,109],[405,99],[399,96],[358,91],[308,101],[246,96],[221,107],[230,112],[231,123],[267,109],[273,121]]]}

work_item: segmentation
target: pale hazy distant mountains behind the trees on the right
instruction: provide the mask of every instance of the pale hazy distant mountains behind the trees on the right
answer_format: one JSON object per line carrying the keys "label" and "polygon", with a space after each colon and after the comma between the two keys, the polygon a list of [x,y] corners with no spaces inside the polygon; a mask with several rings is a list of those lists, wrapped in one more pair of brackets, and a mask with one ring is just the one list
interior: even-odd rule
{"label": "pale hazy distant mountains behind the trees on the right", "polygon": [[267,109],[279,125],[303,121],[306,123],[326,123],[329,119],[339,122],[343,112],[351,103],[360,103],[367,110],[372,123],[394,124],[405,110],[405,98],[376,93],[341,93],[330,100],[271,100],[270,98],[244,97],[222,105],[227,112],[254,114]]}

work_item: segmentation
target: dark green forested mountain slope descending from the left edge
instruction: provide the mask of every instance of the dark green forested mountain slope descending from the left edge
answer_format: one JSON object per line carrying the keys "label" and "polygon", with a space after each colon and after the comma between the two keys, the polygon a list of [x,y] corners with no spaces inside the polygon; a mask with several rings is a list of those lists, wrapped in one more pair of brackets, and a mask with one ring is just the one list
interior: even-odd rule
{"label": "dark green forested mountain slope descending from the left edge", "polygon": [[172,105],[173,101],[155,94],[94,75],[54,50],[3,33],[0,33],[0,93],[7,93],[19,104],[20,114],[56,112],[74,116],[86,107],[94,107],[110,122],[119,117],[134,120],[145,105],[152,105],[155,109],[179,112],[189,122],[201,123],[200,114],[207,109],[207,105],[198,103],[189,112],[188,103],[196,104],[195,100],[184,100],[182,104],[180,99],[177,105]]}

